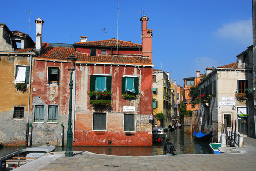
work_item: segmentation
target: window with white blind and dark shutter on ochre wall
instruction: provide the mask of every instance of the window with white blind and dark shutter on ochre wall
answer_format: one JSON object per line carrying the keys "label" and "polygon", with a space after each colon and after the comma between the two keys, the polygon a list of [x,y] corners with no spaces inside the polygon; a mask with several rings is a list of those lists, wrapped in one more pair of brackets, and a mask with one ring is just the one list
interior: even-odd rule
{"label": "window with white blind and dark shutter on ochre wall", "polygon": [[16,83],[29,83],[29,66],[16,66]]}

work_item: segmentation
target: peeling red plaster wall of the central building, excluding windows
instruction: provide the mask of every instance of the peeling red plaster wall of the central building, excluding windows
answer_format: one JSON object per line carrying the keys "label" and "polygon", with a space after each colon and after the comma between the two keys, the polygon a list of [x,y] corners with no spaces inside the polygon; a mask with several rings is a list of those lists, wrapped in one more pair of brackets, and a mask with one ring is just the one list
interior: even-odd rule
{"label": "peeling red plaster wall of the central building, excluding windows", "polygon": [[[60,68],[60,84],[47,84],[48,67]],[[148,114],[152,114],[152,68],[140,68],[141,77],[141,117],[139,117],[139,97],[136,100],[125,100],[121,94],[121,77],[134,75],[140,78],[140,71],[134,66],[118,65],[87,65],[76,66],[76,78],[73,73],[73,100],[76,98],[75,131],[73,145],[111,145],[114,146],[151,146],[152,125],[149,123]],[[111,109],[94,108],[90,104],[90,75],[109,74],[112,76],[112,106]],[[70,73],[67,71],[67,63],[45,62],[36,60],[34,70],[33,108],[35,105],[44,105],[44,123],[32,123],[32,145],[43,145],[49,142],[51,145],[61,145],[63,136],[61,124],[64,125],[64,145],[66,144],[66,132],[68,122],[68,101]],[[139,80],[140,82],[140,80]],[[76,87],[76,95],[74,88]],[[58,123],[47,123],[49,105],[58,106]],[[135,127],[132,135],[126,135],[123,131],[123,106],[135,106]],[[93,112],[107,112],[107,130],[93,131]],[[73,116],[73,114],[72,114]],[[34,118],[34,112],[32,117]],[[141,125],[139,126],[139,118]],[[72,117],[72,127],[73,127]],[[139,132],[141,130],[141,132]]]}

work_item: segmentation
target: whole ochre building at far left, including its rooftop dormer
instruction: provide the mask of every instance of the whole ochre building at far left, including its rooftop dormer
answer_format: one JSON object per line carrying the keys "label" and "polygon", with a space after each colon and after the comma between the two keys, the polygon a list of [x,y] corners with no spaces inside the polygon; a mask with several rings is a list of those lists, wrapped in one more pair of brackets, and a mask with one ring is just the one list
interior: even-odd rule
{"label": "whole ochre building at far left, including its rooftop dormer", "polygon": [[28,34],[10,31],[0,23],[0,142],[25,145],[28,138],[29,106],[32,102],[35,43]]}

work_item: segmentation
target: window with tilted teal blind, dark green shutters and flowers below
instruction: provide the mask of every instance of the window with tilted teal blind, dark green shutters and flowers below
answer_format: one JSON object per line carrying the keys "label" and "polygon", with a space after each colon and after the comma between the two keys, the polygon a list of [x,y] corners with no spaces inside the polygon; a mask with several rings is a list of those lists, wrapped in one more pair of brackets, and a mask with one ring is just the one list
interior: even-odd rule
{"label": "window with tilted teal blind, dark green shutters and flowers below", "polygon": [[122,98],[135,99],[139,95],[139,78],[122,77]]}

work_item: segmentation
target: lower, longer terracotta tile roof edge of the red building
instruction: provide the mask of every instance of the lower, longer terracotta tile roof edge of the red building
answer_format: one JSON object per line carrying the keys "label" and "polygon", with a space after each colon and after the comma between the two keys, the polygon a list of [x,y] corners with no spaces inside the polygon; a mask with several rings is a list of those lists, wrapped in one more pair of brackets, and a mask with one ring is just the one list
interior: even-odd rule
{"label": "lower, longer terracotta tile roof edge of the red building", "polygon": [[[54,47],[47,43],[44,52],[38,58],[66,60],[71,54],[74,54],[77,61],[95,62],[95,63],[125,63],[125,64],[152,64],[149,58],[130,57],[130,56],[113,56],[100,55],[91,57],[88,54],[77,53],[74,48],[70,47]],[[112,59],[113,58],[113,59]]]}

